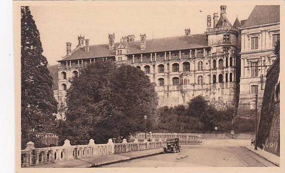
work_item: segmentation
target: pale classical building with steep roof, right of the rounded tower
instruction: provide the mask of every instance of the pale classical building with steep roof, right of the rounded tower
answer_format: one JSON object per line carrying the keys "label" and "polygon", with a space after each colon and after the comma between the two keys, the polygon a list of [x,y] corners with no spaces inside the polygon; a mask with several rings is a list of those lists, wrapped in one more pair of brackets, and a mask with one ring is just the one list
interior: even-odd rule
{"label": "pale classical building with steep roof, right of the rounded tower", "polygon": [[256,5],[240,28],[240,33],[241,77],[238,115],[251,117],[254,114],[256,93],[257,107],[261,107],[265,76],[276,59],[273,50],[276,41],[280,39],[280,5]]}

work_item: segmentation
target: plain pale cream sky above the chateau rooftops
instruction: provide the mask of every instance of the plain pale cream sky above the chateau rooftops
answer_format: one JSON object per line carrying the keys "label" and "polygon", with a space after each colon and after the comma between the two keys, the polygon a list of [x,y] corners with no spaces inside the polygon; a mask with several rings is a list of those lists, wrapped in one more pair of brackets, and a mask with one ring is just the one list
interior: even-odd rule
{"label": "plain pale cream sky above the chateau rooftops", "polygon": [[[146,39],[204,33],[207,15],[227,5],[231,24],[236,17],[245,20],[258,1],[82,1],[31,5],[30,11],[40,32],[43,55],[49,65],[57,64],[66,54],[65,43],[75,49],[77,36],[85,35],[89,45],[108,44],[108,33],[115,42],[122,36],[146,34]],[[254,2],[254,3],[253,3]],[[212,19],[213,22],[213,19]]]}

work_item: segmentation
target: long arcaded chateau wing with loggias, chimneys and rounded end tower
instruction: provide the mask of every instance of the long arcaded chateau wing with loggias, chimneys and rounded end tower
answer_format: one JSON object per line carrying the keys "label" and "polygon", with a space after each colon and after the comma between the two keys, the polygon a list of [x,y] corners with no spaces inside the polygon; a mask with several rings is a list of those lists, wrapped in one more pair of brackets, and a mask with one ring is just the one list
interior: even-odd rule
{"label": "long arcaded chateau wing with loggias, chimneys and rounded end tower", "polygon": [[82,66],[98,59],[141,69],[155,83],[159,106],[187,105],[199,95],[218,108],[226,102],[236,103],[241,23],[236,19],[232,25],[226,8],[220,7],[220,16],[214,13],[213,22],[207,16],[207,28],[201,34],[191,34],[186,28],[183,36],[147,39],[140,34],[136,41],[134,35],[128,35],[116,43],[113,33],[108,36],[109,44],[103,45],[89,45],[89,40],[80,35],[73,50],[71,43],[66,43],[66,55],[58,60],[55,97],[59,107],[65,105],[69,78],[78,76]]}

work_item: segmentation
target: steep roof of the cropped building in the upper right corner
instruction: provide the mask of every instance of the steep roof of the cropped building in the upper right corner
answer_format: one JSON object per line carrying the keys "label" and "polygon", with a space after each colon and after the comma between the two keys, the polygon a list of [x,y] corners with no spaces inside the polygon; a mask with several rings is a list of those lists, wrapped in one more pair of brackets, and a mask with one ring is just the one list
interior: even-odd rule
{"label": "steep roof of the cropped building in the upper right corner", "polygon": [[242,27],[280,22],[280,5],[256,5]]}

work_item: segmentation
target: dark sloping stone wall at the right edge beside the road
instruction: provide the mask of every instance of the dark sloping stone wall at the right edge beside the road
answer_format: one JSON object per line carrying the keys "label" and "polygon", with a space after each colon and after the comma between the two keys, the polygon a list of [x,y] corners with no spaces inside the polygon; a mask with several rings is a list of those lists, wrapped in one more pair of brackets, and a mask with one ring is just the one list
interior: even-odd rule
{"label": "dark sloping stone wall at the right edge beside the road", "polygon": [[[257,130],[257,147],[280,155],[280,101],[276,98],[279,83],[280,59],[268,70]],[[280,84],[280,83],[279,83]],[[279,91],[277,91],[279,93]]]}

